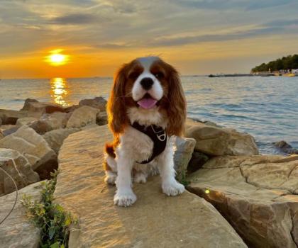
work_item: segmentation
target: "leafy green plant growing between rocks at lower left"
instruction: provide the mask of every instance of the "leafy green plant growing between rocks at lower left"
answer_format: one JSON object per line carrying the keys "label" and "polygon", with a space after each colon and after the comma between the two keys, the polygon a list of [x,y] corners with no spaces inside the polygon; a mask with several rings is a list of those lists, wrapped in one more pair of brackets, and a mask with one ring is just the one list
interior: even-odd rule
{"label": "leafy green plant growing between rocks at lower left", "polygon": [[75,220],[61,205],[53,203],[57,171],[51,176],[53,179],[42,182],[40,201],[31,201],[30,197],[23,196],[21,202],[27,209],[29,220],[40,228],[40,247],[66,248],[70,224]]}

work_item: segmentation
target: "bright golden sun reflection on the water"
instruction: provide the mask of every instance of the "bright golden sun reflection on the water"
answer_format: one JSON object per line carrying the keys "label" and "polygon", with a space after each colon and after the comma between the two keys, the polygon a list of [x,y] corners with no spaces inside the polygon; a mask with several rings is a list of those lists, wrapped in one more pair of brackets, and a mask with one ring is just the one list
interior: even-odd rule
{"label": "bright golden sun reflection on the water", "polygon": [[50,79],[50,85],[52,88],[51,97],[54,98],[55,103],[61,106],[67,106],[65,96],[67,96],[67,81],[62,77],[55,77]]}

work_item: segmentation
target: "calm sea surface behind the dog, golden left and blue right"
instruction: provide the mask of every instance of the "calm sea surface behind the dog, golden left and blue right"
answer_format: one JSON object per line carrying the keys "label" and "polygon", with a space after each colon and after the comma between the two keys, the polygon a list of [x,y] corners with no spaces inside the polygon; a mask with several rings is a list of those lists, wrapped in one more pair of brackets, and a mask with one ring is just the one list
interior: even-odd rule
{"label": "calm sea surface behind the dog, golden left and blue right", "polygon": [[[19,110],[26,98],[64,106],[109,96],[111,78],[2,79],[0,108]],[[298,77],[182,77],[188,115],[250,133],[263,154],[272,142],[298,148]]]}

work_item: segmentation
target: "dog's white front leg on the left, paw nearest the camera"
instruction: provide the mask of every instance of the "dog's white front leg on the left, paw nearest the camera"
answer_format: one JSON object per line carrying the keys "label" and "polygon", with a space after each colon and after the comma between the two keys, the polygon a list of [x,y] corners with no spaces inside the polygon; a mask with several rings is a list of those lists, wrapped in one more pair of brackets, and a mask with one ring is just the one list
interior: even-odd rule
{"label": "dog's white front leg on the left, paw nearest the camera", "polygon": [[114,196],[114,204],[122,207],[133,205],[136,201],[136,195],[131,188],[131,169],[133,160],[123,155],[117,159],[118,176],[116,178],[117,191]]}

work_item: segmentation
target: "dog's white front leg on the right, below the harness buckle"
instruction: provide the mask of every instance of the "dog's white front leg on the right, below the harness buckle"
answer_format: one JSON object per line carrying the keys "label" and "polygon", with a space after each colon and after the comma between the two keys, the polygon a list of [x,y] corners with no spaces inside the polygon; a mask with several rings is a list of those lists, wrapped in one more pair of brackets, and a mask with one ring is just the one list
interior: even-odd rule
{"label": "dog's white front leg on the right, below the harness buckle", "polygon": [[167,196],[177,196],[184,192],[184,186],[175,179],[174,150],[169,139],[165,151],[158,158],[160,176],[162,179],[162,191]]}

